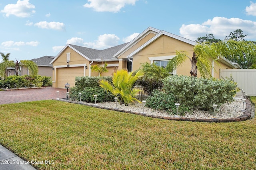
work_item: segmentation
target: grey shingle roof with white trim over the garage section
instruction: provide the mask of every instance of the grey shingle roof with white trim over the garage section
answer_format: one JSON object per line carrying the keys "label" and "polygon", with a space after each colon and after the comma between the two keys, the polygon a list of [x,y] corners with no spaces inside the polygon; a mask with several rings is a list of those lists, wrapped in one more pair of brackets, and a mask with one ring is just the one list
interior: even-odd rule
{"label": "grey shingle roof with white trim over the garage section", "polygon": [[113,58],[113,55],[127,44],[128,43],[124,43],[104,50],[97,50],[78,45],[67,44],[60,51],[60,53],[58,53],[58,55],[51,61],[50,64],[52,64],[68,47],[76,51],[78,54],[80,54],[88,61],[118,61],[117,58]]}

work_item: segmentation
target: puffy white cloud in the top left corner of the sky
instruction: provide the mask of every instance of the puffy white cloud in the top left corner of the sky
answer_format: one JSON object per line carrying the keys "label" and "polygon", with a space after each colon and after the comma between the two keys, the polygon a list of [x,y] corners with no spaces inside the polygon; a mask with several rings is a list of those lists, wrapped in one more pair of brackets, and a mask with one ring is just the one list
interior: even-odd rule
{"label": "puffy white cloud in the top left corner of the sky", "polygon": [[36,11],[32,10],[36,8],[33,4],[29,3],[29,0],[18,0],[16,4],[8,4],[4,7],[4,10],[1,10],[2,13],[6,13],[5,15],[9,17],[10,15],[14,15],[17,17],[30,17]]}

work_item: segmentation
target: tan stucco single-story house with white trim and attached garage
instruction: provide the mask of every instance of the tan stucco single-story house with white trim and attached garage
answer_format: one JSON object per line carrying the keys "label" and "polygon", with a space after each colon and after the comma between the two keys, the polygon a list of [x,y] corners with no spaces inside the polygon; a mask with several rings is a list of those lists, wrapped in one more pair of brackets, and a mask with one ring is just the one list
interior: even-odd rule
{"label": "tan stucco single-story house with white trim and attached garage", "polygon": [[[92,72],[90,66],[94,64],[108,63],[108,72],[103,76],[112,75],[114,67],[118,70],[127,69],[134,71],[140,68],[142,63],[156,63],[159,66],[166,66],[167,62],[176,55],[176,51],[184,51],[192,57],[193,47],[196,42],[185,39],[178,35],[160,31],[148,27],[129,43],[124,43],[109,49],[96,50],[77,45],[67,44],[60,53],[52,60],[53,65],[52,86],[64,88],[68,82],[74,86],[76,76],[98,76]],[[236,63],[227,59],[219,59],[220,64],[212,62],[212,76],[219,78],[219,69],[237,69]],[[174,70],[173,74],[190,76],[191,63],[189,59]],[[200,77],[200,73],[198,74]]]}

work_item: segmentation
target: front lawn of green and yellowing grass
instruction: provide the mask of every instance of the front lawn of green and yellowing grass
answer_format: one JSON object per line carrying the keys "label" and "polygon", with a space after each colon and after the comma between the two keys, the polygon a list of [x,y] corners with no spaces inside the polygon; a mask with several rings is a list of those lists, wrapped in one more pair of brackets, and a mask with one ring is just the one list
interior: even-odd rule
{"label": "front lawn of green and yellowing grass", "polygon": [[256,169],[256,121],[154,119],[55,100],[0,105],[0,143],[38,169]]}

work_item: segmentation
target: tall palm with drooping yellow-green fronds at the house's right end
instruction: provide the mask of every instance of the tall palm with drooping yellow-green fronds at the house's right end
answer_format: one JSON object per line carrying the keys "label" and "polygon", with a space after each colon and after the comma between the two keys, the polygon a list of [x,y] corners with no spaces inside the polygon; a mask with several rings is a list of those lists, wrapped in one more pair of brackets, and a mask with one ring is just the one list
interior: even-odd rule
{"label": "tall palm with drooping yellow-green fronds at the house's right end", "polygon": [[197,43],[193,49],[192,58],[185,53],[176,51],[176,56],[167,64],[168,70],[176,69],[186,58],[191,62],[191,76],[197,76],[197,69],[202,77],[210,77],[211,65],[210,59],[218,57],[232,57],[234,59],[244,60],[244,55],[247,56],[249,62],[256,63],[256,44],[251,41],[220,41],[218,43]]}

